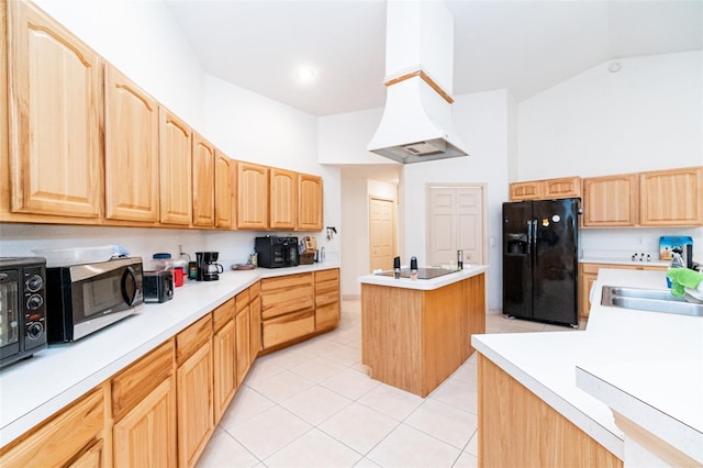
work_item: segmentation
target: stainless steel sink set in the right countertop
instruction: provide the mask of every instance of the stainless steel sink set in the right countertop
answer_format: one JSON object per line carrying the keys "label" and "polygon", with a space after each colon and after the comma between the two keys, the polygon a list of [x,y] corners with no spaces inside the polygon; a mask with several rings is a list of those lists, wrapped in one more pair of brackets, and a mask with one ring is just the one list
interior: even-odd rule
{"label": "stainless steel sink set in the right countertop", "polygon": [[604,286],[601,305],[703,316],[703,303],[689,302],[683,298],[674,298],[668,289]]}

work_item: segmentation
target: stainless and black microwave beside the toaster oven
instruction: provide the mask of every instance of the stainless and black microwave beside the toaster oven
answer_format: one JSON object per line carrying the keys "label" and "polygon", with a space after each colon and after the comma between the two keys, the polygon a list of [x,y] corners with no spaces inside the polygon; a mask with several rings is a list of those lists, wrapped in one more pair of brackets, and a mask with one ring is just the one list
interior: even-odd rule
{"label": "stainless and black microwave beside the toaster oven", "polygon": [[144,304],[141,257],[46,268],[48,342],[82,338]]}

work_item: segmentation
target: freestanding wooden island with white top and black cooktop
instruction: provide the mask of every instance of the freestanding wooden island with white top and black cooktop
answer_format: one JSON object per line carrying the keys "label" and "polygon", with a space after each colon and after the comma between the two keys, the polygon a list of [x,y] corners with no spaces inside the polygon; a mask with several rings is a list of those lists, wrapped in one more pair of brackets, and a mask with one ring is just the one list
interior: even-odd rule
{"label": "freestanding wooden island with white top and black cooktop", "polygon": [[486,271],[432,279],[367,275],[361,282],[361,363],[369,376],[426,397],[471,356],[486,333]]}

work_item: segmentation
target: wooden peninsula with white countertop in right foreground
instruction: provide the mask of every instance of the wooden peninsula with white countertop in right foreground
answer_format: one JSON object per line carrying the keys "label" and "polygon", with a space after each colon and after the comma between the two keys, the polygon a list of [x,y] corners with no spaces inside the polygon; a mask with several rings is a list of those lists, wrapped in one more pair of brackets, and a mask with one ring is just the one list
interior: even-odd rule
{"label": "wooden peninsula with white countertop in right foreground", "polygon": [[603,286],[665,276],[602,268],[585,331],[473,337],[480,466],[651,465],[628,434],[659,464],[703,464],[703,317],[601,305]]}

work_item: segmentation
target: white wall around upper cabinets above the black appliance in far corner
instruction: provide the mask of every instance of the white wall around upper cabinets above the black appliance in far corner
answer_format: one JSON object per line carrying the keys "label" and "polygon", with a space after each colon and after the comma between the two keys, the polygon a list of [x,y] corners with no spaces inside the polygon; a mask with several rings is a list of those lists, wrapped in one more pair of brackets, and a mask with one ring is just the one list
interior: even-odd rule
{"label": "white wall around upper cabinets above the black appliance in far corner", "polygon": [[[339,235],[327,241],[325,230],[282,234],[314,236],[317,248],[325,247],[326,260],[338,261],[341,176],[338,168],[317,163],[316,118],[211,76],[205,77],[205,136],[230,157],[322,176],[324,223]],[[208,235],[209,248],[242,261],[252,252],[254,237],[265,234],[270,233],[213,232]]]}

